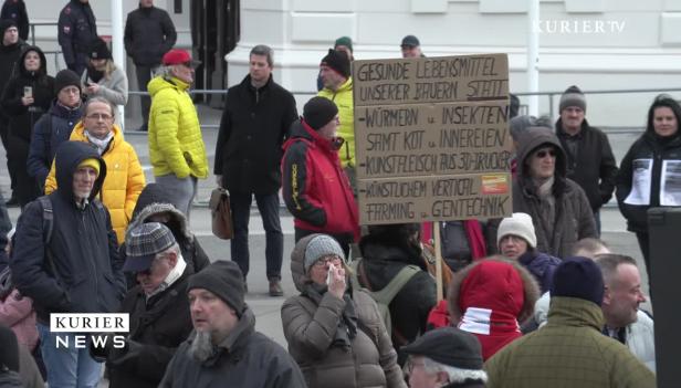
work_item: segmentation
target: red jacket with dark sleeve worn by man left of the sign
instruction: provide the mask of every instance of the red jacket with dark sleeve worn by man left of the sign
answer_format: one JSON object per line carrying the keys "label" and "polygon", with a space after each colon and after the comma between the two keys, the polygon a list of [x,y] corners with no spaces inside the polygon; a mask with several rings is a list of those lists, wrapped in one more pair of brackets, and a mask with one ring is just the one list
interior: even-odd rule
{"label": "red jacket with dark sleeve worn by man left of the sign", "polygon": [[359,238],[357,203],[335,141],[303,119],[291,128],[282,158],[282,193],[298,229]]}

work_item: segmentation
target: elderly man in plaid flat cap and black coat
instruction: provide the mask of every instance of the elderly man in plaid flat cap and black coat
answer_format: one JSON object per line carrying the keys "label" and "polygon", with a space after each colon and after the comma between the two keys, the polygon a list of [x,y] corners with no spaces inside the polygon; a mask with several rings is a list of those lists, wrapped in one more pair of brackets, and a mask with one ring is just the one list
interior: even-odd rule
{"label": "elderly man in plaid flat cap and black coat", "polygon": [[128,291],[121,312],[130,316],[124,348],[94,352],[106,360],[109,387],[157,387],[179,345],[191,333],[187,265],[172,232],[148,222],[127,232],[123,270],[138,285]]}

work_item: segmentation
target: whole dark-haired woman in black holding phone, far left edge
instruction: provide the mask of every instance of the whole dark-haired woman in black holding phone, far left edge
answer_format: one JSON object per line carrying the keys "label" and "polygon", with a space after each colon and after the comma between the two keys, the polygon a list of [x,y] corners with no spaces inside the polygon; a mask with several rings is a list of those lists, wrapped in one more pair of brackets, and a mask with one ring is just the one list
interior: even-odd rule
{"label": "whole dark-haired woman in black holding phone, far left edge", "polygon": [[13,193],[21,208],[38,198],[35,179],[27,174],[33,126],[54,98],[54,78],[48,75],[45,55],[28,48],[17,61],[17,72],[2,94],[2,111],[9,116],[8,168],[15,171]]}

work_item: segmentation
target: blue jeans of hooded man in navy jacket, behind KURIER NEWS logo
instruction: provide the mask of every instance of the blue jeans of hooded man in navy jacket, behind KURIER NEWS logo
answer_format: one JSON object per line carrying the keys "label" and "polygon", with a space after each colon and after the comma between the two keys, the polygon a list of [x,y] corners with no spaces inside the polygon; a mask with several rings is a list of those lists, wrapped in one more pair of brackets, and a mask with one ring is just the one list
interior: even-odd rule
{"label": "blue jeans of hooded man in navy jacket, behind KURIER NEWS logo", "polygon": [[87,348],[74,348],[71,333],[59,333],[62,338],[69,337],[70,347],[56,348],[57,333],[51,333],[50,326],[43,324],[36,326],[50,388],[96,388],[102,377],[102,364],[90,357]]}

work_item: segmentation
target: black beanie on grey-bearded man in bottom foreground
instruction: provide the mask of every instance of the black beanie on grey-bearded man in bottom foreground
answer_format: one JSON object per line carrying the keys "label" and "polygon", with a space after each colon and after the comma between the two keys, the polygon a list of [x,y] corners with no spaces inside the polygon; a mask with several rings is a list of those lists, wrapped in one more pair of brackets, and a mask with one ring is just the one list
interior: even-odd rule
{"label": "black beanie on grey-bearded man in bottom foreground", "polygon": [[192,289],[205,289],[212,292],[234,308],[238,316],[241,316],[245,287],[243,286],[243,274],[233,261],[218,260],[193,274],[189,277],[187,291]]}

